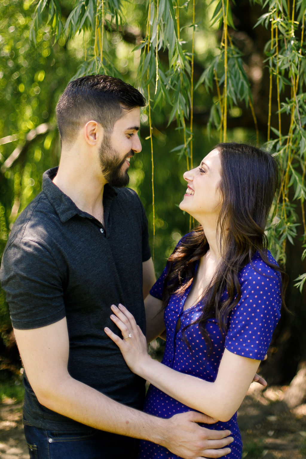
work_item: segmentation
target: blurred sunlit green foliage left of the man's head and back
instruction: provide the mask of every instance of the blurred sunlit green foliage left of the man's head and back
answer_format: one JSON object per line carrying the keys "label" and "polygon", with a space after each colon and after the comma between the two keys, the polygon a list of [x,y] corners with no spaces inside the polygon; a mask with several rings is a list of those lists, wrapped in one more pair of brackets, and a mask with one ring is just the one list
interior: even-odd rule
{"label": "blurred sunlit green foliage left of the man's head and back", "polygon": [[[17,215],[41,189],[43,172],[59,160],[55,105],[80,63],[77,49],[55,45],[50,26],[29,42],[31,2],[0,2],[0,250]],[[41,134],[40,134],[41,133]],[[11,321],[0,291],[0,338],[10,342]],[[1,348],[1,346],[0,346]]]}

